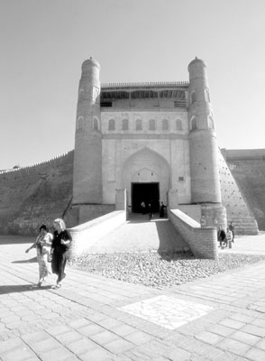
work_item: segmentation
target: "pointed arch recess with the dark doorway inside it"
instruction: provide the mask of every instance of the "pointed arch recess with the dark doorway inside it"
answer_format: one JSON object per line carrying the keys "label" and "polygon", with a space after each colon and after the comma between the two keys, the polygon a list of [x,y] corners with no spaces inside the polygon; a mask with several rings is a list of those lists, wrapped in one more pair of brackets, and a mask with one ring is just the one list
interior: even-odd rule
{"label": "pointed arch recess with the dark doorway inside it", "polygon": [[149,148],[134,153],[123,165],[123,187],[133,212],[141,212],[142,201],[148,204],[151,200],[157,212],[160,201],[167,204],[169,184],[169,163]]}

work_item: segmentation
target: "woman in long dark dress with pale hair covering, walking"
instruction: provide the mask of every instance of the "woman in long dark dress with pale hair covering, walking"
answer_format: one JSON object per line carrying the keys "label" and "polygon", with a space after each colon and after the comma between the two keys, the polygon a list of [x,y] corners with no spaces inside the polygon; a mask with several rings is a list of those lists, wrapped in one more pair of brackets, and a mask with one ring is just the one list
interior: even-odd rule
{"label": "woman in long dark dress with pale hair covering, walking", "polygon": [[53,233],[53,240],[51,245],[51,270],[52,273],[58,275],[56,285],[53,287],[58,289],[61,287],[61,281],[65,278],[65,266],[69,258],[69,247],[72,242],[72,237],[66,229],[64,221],[57,218],[53,221],[55,231]]}

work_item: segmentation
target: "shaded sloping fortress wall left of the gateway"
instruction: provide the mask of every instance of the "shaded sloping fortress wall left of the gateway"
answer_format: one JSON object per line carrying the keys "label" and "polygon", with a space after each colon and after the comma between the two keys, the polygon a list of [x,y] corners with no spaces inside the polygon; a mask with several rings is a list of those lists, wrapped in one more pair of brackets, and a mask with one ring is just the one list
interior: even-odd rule
{"label": "shaded sloping fortress wall left of the gateway", "polygon": [[61,218],[72,198],[73,151],[0,172],[0,233],[35,235]]}

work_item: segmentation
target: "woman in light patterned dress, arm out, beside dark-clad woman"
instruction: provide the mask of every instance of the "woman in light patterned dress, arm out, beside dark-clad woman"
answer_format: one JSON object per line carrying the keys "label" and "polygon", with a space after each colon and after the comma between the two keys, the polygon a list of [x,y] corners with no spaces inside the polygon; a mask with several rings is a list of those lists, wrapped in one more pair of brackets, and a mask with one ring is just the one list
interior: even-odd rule
{"label": "woman in light patterned dress, arm out, beside dark-clad woman", "polygon": [[40,234],[37,236],[35,242],[25,250],[26,254],[32,249],[37,250],[37,261],[39,264],[39,282],[38,287],[45,282],[46,277],[50,274],[50,247],[52,242],[52,235],[46,225],[40,227]]}

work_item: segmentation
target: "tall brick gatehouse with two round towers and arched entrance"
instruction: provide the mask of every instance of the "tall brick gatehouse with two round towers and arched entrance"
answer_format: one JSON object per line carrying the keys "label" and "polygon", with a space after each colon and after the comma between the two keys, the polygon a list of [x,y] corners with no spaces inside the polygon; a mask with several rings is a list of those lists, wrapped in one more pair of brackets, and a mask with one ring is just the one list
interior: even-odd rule
{"label": "tall brick gatehouse with two round towers and arched entrance", "polygon": [[188,73],[189,82],[101,85],[98,62],[84,61],[70,225],[102,214],[125,190],[131,212],[152,199],[226,226],[206,63],[191,61]]}

